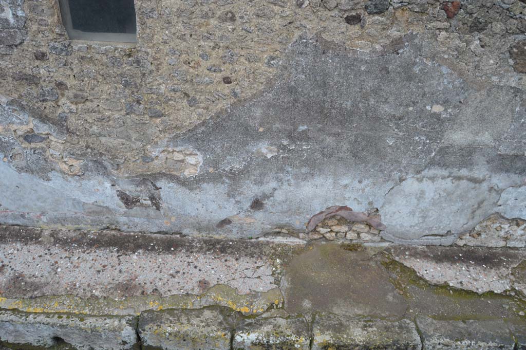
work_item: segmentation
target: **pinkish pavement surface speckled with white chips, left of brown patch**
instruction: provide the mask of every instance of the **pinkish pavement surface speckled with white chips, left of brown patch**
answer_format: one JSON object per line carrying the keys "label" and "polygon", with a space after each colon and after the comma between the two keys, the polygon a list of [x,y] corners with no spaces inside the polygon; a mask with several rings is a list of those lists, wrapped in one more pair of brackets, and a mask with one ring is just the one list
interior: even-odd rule
{"label": "pinkish pavement surface speckled with white chips, left of brown patch", "polygon": [[[167,235],[0,228],[4,297],[238,294],[277,288],[276,272],[299,244]],[[281,251],[281,253],[280,253]],[[28,265],[28,262],[31,265]]]}

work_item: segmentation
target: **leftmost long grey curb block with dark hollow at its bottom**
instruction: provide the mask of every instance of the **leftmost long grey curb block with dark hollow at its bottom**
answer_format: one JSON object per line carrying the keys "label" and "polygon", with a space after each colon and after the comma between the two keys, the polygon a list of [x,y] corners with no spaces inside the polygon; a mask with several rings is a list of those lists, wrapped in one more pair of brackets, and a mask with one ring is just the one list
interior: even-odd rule
{"label": "leftmost long grey curb block with dark hollow at its bottom", "polygon": [[52,348],[64,342],[79,350],[128,350],[137,343],[133,316],[24,313],[0,309],[0,341]]}

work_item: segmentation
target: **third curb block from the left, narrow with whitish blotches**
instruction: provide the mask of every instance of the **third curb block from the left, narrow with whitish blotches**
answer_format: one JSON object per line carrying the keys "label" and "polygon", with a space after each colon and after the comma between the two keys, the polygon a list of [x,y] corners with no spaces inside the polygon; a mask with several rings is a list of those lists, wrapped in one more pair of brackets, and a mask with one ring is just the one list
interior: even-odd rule
{"label": "third curb block from the left, narrow with whitish blotches", "polygon": [[236,327],[234,350],[309,350],[310,331],[303,317],[246,319]]}

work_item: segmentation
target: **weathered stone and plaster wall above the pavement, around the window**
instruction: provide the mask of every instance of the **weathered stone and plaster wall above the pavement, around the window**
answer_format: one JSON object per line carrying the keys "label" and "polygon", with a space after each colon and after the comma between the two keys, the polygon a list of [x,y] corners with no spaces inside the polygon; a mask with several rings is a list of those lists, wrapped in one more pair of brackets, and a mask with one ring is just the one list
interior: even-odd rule
{"label": "weathered stone and plaster wall above the pavement, around the window", "polygon": [[526,218],[522,0],[135,7],[136,45],[0,0],[0,223],[247,238],[348,206],[452,244]]}

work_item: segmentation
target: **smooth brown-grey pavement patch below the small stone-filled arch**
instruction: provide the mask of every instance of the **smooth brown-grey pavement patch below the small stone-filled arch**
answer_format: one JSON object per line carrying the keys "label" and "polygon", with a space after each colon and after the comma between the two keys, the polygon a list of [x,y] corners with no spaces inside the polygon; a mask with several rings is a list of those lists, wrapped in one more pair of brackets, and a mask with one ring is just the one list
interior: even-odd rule
{"label": "smooth brown-grey pavement patch below the small stone-filled arch", "polygon": [[389,281],[379,259],[320,243],[285,268],[281,289],[290,313],[331,312],[342,316],[398,319],[407,302]]}

